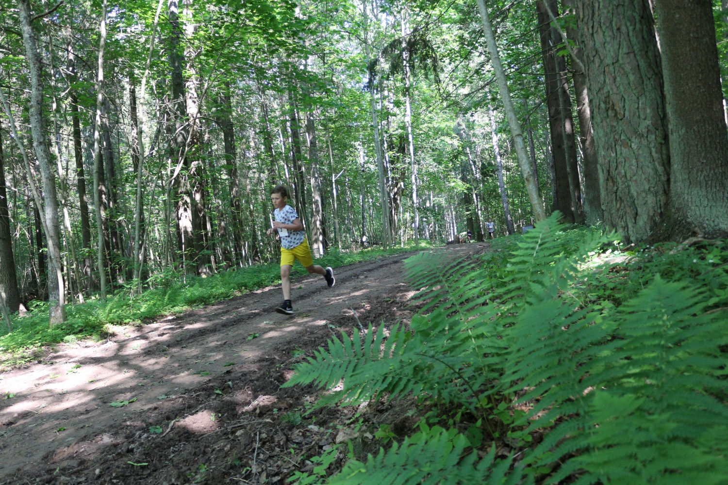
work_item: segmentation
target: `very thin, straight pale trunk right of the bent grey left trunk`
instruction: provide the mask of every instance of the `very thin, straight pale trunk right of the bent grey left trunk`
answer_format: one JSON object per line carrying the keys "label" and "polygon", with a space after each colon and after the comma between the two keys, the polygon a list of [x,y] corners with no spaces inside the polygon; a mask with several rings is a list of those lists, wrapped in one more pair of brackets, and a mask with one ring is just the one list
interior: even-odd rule
{"label": "very thin, straight pale trunk right of the bent grey left trunk", "polygon": [[98,233],[98,249],[96,264],[98,265],[98,281],[101,300],[106,300],[106,266],[104,265],[103,219],[101,217],[100,184],[101,160],[101,110],[103,108],[103,50],[106,47],[106,0],[101,5],[100,39],[98,43],[98,75],[96,76],[96,120],[93,130],[93,200],[96,215],[96,231]]}

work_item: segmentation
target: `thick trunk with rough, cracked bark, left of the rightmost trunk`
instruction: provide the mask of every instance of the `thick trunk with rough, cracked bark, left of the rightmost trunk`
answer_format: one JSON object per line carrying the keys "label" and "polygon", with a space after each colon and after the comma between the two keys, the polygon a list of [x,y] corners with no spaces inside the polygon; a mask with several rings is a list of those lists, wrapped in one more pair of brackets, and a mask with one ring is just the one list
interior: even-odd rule
{"label": "thick trunk with rough, cracked bark, left of the rightmost trunk", "polygon": [[657,229],[667,207],[670,171],[662,68],[649,0],[579,2],[577,23],[604,223],[627,241],[643,241]]}

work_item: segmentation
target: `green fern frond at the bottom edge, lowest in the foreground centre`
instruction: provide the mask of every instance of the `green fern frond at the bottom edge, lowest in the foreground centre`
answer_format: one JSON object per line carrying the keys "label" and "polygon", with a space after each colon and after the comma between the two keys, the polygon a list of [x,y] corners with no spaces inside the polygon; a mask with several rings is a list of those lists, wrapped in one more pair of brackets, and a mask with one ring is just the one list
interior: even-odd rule
{"label": "green fern frond at the bottom edge, lowest in the foreground centre", "polygon": [[521,481],[520,468],[513,466],[513,457],[495,460],[496,450],[478,459],[476,452],[465,454],[469,442],[457,430],[435,426],[396,443],[379,454],[371,454],[365,463],[349,460],[344,469],[333,476],[331,485],[516,485]]}

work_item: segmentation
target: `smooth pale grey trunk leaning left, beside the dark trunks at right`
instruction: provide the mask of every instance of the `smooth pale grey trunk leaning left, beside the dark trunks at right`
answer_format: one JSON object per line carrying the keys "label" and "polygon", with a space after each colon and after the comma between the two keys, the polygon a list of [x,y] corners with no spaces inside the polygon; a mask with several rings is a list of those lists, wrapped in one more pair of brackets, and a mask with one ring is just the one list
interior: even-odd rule
{"label": "smooth pale grey trunk leaning left, beside the dark trunks at right", "polygon": [[498,81],[498,90],[501,95],[503,107],[505,108],[510,133],[513,135],[513,144],[515,145],[515,153],[518,156],[518,164],[521,166],[523,180],[526,182],[526,191],[529,193],[531,207],[533,207],[534,210],[534,219],[537,223],[539,223],[546,219],[546,209],[541,197],[539,197],[539,188],[536,183],[536,178],[534,177],[534,170],[531,167],[529,153],[526,151],[526,143],[523,140],[521,124],[518,123],[518,116],[515,115],[515,107],[513,106],[513,100],[510,97],[508,81],[505,77],[505,71],[503,71],[500,55],[498,54],[498,46],[496,44],[493,26],[491,25],[491,19],[488,17],[488,9],[486,9],[484,0],[476,1],[478,1],[480,20],[483,22],[483,33],[486,36],[486,42],[488,44],[488,54],[491,56],[491,65],[493,66],[496,81]]}

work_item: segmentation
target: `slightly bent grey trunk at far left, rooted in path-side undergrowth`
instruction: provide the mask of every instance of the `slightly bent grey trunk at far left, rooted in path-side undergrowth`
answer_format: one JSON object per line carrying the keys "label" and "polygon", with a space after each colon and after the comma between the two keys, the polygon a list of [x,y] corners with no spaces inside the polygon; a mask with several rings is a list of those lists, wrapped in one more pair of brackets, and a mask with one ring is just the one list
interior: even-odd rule
{"label": "slightly bent grey trunk at far left, rooted in path-side undergrowth", "polygon": [[[23,30],[25,55],[31,73],[30,119],[33,132],[33,148],[41,169],[43,180],[45,222],[47,232],[50,267],[48,272],[48,300],[50,302],[50,323],[59,324],[66,321],[66,288],[61,270],[63,260],[60,256],[60,225],[58,223],[58,199],[55,190],[55,174],[51,163],[50,151],[45,137],[43,122],[43,76],[41,73],[41,57],[36,47],[36,34],[33,31],[33,12],[30,0],[20,0],[20,26]],[[30,174],[28,174],[30,176]]]}

